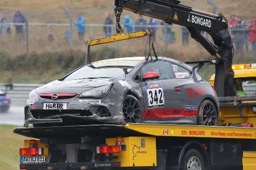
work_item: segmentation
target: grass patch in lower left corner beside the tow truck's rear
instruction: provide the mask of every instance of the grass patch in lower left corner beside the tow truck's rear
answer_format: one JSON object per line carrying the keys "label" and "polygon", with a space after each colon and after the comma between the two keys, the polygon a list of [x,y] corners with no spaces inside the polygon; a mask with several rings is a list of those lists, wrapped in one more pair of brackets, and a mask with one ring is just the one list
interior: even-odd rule
{"label": "grass patch in lower left corner beside the tow truck's rear", "polygon": [[19,148],[24,147],[21,135],[13,133],[13,125],[0,125],[0,170],[19,169]]}

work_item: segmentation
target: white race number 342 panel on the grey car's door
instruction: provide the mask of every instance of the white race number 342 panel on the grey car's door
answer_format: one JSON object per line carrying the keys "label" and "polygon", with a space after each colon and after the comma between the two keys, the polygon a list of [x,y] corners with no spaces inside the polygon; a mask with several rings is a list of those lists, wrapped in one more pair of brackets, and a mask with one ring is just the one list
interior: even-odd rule
{"label": "white race number 342 panel on the grey car's door", "polygon": [[145,83],[147,90],[148,108],[157,108],[164,106],[164,92],[160,82]]}

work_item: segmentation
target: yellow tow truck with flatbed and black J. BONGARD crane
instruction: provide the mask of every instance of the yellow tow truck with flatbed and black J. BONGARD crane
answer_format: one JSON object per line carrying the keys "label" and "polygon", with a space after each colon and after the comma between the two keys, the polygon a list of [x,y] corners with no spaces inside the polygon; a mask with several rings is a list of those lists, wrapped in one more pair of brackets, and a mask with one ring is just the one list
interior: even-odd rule
{"label": "yellow tow truck with flatbed and black J. BONGARD crane", "polygon": [[[193,39],[214,56],[211,63],[216,66],[216,74],[210,83],[220,97],[220,125],[225,126],[15,128],[14,133],[32,138],[24,141],[24,148],[19,150],[20,169],[256,169],[256,129],[252,127],[256,124],[256,96],[236,96],[237,73],[232,69],[233,45],[225,17],[193,10],[177,0],[115,0],[115,6],[119,34],[93,42],[129,39],[129,35],[121,33],[122,10],[187,27]],[[213,42],[203,37],[201,31],[209,33]],[[92,44],[89,42],[88,46]],[[90,62],[90,55],[86,61]],[[203,65],[199,62],[197,67]],[[233,126],[234,123],[240,124]]]}

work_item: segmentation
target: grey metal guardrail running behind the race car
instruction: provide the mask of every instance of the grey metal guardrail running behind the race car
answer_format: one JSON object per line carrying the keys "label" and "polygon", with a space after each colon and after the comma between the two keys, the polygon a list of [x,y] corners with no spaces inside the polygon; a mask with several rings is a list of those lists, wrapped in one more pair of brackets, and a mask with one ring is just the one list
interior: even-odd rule
{"label": "grey metal guardrail running behind the race car", "polygon": [[[0,83],[0,90],[5,92],[6,84]],[[13,84],[13,89],[7,89],[7,95],[10,97],[11,101],[25,103],[28,97],[28,94],[35,88],[43,86],[44,84]],[[253,84],[243,84],[243,91],[248,95],[256,95],[256,83]]]}

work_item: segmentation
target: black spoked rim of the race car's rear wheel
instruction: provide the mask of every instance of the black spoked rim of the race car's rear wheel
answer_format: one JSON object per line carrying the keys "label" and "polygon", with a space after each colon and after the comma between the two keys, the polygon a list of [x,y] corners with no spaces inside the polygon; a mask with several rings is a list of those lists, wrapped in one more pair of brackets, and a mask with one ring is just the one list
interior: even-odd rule
{"label": "black spoked rim of the race car's rear wheel", "polygon": [[214,106],[210,103],[203,108],[203,125],[215,126],[217,124],[217,113]]}

